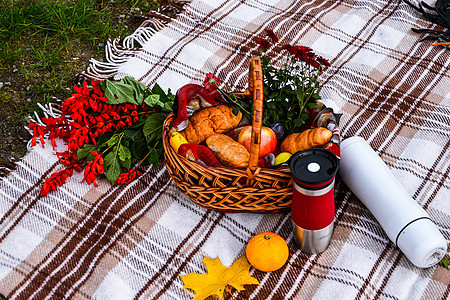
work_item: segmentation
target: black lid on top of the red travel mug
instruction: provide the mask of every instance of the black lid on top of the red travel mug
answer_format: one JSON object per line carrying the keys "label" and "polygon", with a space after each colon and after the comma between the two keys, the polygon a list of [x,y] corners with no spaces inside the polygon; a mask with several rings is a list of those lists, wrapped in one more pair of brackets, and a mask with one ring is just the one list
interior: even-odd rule
{"label": "black lid on top of the red travel mug", "polygon": [[312,148],[294,153],[289,167],[298,184],[320,186],[334,178],[339,159],[330,150]]}

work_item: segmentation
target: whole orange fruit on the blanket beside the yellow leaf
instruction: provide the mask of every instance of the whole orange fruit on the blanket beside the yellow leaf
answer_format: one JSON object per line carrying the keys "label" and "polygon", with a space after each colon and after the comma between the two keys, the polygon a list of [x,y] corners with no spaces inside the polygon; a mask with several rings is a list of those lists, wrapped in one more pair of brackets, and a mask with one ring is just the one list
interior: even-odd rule
{"label": "whole orange fruit on the blanket beside the yellow leaf", "polygon": [[255,269],[272,272],[284,266],[289,257],[289,248],[278,234],[262,232],[250,239],[245,254]]}

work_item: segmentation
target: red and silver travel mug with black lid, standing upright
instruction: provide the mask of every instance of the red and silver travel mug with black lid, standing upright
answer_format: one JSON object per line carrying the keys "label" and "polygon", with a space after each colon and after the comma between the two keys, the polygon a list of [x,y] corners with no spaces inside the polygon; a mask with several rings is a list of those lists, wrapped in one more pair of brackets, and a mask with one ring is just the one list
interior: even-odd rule
{"label": "red and silver travel mug with black lid, standing upright", "polygon": [[320,253],[333,233],[339,159],[329,150],[313,148],[293,154],[289,167],[294,178],[291,218],[295,241],[304,252]]}

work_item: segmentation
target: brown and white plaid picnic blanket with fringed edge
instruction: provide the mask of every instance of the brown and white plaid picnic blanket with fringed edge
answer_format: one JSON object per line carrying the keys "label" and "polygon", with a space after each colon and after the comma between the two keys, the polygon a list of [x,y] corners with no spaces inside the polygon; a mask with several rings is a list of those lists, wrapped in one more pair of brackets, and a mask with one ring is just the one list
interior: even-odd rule
{"label": "brown and white plaid picnic blanket with fringed edge", "polygon": [[[254,38],[265,29],[280,43],[309,46],[331,62],[320,94],[343,113],[342,137],[368,140],[448,241],[450,51],[419,42],[416,26],[435,27],[400,0],[194,0],[165,28],[141,28],[128,46],[111,43],[110,61],[93,61],[90,74],[176,90],[212,72],[243,90]],[[251,268],[260,285],[226,299],[450,294],[448,268],[410,263],[339,177],[331,244],[310,255],[295,246],[289,213],[200,208],[164,164],[126,186],[94,188],[76,174],[40,198],[43,180],[61,168],[51,147],[38,146],[0,182],[0,293],[8,298],[192,299],[179,275],[206,273],[203,256],[230,266],[263,231],[286,239],[288,262],[270,273]]]}

